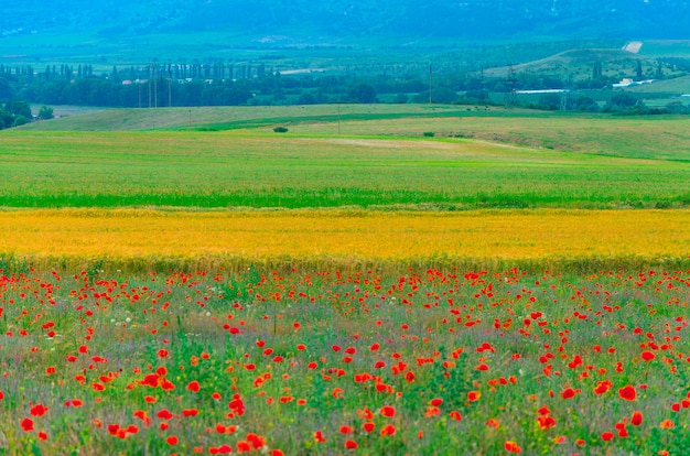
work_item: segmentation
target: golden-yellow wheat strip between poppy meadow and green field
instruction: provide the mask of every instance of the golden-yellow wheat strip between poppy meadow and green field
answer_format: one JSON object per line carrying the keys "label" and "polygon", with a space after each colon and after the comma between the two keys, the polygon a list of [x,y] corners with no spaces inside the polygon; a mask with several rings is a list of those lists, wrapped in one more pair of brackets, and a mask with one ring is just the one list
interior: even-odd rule
{"label": "golden-yellow wheat strip between poppy meadow and green field", "polygon": [[688,258],[689,210],[0,211],[0,253],[137,259]]}

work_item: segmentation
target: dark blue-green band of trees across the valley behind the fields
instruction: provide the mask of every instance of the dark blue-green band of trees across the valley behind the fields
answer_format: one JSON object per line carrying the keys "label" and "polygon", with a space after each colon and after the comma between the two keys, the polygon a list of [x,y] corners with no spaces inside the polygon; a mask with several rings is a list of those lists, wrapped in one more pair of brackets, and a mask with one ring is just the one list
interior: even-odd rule
{"label": "dark blue-green band of trees across the valley behind the fields", "polygon": [[[420,67],[424,69],[424,67]],[[100,73],[93,65],[50,65],[37,72],[30,65],[0,65],[0,102],[6,102],[0,128],[31,120],[31,112],[14,106],[24,100],[42,105],[99,107],[191,107],[238,105],[313,105],[328,102],[440,102],[520,105],[549,110],[606,111],[618,113],[687,113],[682,104],[647,109],[635,96],[613,95],[601,105],[586,90],[611,87],[613,77],[594,65],[587,79],[564,80],[560,75],[518,73],[510,77],[485,77],[483,72],[445,70],[432,74],[387,72],[385,67],[357,74],[306,73],[281,75],[263,64],[233,65],[222,62],[151,64]],[[516,90],[563,89],[527,101]],[[578,89],[580,95],[572,95]],[[9,108],[7,108],[9,106]],[[11,116],[11,118],[10,118]],[[18,117],[21,116],[21,117]],[[47,112],[37,117],[45,119]]]}

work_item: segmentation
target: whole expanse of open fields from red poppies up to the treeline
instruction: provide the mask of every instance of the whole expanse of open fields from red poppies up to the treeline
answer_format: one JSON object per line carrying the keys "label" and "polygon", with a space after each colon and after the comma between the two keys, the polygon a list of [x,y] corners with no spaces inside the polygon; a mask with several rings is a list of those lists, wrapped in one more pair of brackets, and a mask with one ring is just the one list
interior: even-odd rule
{"label": "whole expanse of open fields from red poppies up to the treeline", "polygon": [[1,455],[690,452],[683,118],[337,109],[0,132]]}

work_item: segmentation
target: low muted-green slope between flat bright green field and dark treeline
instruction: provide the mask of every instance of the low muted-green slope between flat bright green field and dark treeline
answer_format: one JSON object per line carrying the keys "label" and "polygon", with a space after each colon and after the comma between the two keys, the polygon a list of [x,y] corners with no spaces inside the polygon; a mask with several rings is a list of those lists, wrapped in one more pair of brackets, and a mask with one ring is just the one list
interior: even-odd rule
{"label": "low muted-green slope between flat bright green field and dark treeline", "polygon": [[[611,117],[436,105],[316,105],[114,109],[36,122],[21,130],[238,130],[298,134],[475,138],[533,148],[637,159],[690,160],[683,117]],[[3,135],[12,133],[3,132]]]}

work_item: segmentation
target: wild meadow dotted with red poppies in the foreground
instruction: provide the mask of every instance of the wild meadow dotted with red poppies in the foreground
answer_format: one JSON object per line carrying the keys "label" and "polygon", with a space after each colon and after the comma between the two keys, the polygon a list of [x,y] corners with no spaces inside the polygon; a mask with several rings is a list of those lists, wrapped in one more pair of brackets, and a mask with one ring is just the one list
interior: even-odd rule
{"label": "wild meadow dotted with red poppies in the foreground", "polygon": [[10,454],[690,450],[690,271],[29,270],[0,296]]}

